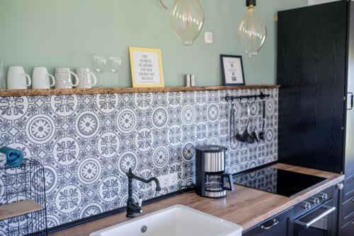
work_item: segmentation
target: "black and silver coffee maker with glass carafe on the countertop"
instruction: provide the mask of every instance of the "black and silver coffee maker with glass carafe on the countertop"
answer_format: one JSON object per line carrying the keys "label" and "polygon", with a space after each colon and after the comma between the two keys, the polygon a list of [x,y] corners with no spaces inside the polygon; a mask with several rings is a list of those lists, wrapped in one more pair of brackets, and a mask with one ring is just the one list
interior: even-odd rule
{"label": "black and silver coffee maker with glass carafe on the countertop", "polygon": [[[234,190],[232,174],[225,173],[225,151],[222,146],[197,146],[195,160],[195,191],[200,196],[221,198],[226,190]],[[229,180],[229,187],[226,186]]]}

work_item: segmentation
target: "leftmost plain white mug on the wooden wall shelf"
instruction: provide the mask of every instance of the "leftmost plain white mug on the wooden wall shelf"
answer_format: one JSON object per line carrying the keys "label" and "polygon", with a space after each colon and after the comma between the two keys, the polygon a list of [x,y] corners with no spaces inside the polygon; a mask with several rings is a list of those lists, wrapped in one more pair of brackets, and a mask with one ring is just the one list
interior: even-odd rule
{"label": "leftmost plain white mug on the wooden wall shelf", "polygon": [[[27,79],[27,81],[26,81]],[[27,82],[27,83],[26,83]],[[8,89],[26,89],[31,85],[30,76],[23,70],[21,66],[11,66],[7,72],[7,88]]]}

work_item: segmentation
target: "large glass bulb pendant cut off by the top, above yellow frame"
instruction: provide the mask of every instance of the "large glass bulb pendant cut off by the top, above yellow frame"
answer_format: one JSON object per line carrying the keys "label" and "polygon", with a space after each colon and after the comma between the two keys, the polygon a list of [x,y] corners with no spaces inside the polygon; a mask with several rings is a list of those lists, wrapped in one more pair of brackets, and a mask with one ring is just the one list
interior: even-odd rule
{"label": "large glass bulb pendant cut off by the top, above yellow frame", "polygon": [[204,25],[204,11],[199,0],[176,0],[171,10],[171,26],[182,45],[193,45]]}

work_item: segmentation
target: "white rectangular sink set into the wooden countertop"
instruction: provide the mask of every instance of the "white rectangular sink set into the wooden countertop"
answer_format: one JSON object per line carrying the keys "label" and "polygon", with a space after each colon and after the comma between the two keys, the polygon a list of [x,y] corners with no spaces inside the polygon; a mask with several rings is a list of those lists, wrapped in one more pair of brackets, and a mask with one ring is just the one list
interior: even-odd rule
{"label": "white rectangular sink set into the wooden countertop", "polygon": [[[146,230],[145,232],[142,232]],[[183,205],[175,205],[90,236],[241,236],[242,227]]]}

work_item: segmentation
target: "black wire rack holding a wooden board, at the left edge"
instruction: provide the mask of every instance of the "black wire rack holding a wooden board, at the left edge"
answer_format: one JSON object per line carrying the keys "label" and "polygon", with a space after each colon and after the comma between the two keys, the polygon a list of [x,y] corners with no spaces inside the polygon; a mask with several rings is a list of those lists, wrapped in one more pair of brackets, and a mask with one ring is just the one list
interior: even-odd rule
{"label": "black wire rack holding a wooden board, at the left edge", "polygon": [[0,235],[47,235],[45,172],[37,160],[0,167]]}

